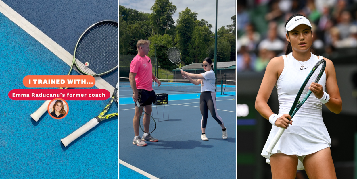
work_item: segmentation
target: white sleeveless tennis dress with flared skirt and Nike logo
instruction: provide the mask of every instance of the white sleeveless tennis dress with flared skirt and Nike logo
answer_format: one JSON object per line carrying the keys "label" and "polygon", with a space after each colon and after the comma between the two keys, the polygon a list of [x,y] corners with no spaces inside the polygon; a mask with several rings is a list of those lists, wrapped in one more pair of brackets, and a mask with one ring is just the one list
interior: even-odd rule
{"label": "white sleeveless tennis dress with flared skirt and Nike logo", "polygon": [[[280,104],[279,117],[289,113],[302,83],[305,81],[312,67],[322,59],[322,56],[320,56],[319,59],[316,55],[311,53],[309,60],[300,63],[292,56],[292,53],[287,55],[287,57],[283,55],[283,58],[284,69],[275,84]],[[301,64],[303,67],[301,67]],[[325,90],[325,72],[323,72],[318,84],[322,85],[323,90]],[[267,158],[266,162],[268,164],[270,164],[269,159],[272,154],[283,153],[287,155],[304,156],[331,146],[330,135],[322,120],[321,107],[322,103],[311,93],[310,97],[292,118],[292,125],[289,125],[284,131],[276,146],[273,148],[272,153],[269,154],[265,150],[279,130],[279,127],[272,126],[267,142],[261,153],[263,157]],[[303,169],[304,166],[299,159],[297,170]]]}

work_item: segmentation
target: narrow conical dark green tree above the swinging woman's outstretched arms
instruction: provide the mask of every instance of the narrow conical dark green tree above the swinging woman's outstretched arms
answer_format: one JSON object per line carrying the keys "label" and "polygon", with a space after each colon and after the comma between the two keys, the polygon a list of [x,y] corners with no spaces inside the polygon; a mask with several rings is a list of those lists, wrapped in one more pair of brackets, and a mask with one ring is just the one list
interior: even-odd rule
{"label": "narrow conical dark green tree above the swinging woman's outstretched arms", "polygon": [[196,26],[192,32],[192,39],[190,45],[188,45],[189,56],[186,60],[188,62],[202,62],[207,57],[207,46],[203,38],[203,29],[203,27]]}

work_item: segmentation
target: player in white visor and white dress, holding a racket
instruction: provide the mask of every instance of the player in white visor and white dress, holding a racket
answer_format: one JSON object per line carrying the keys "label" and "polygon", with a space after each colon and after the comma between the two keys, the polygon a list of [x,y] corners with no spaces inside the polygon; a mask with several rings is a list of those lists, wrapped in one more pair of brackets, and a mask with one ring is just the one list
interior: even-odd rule
{"label": "player in white visor and white dress, holding a racket", "polygon": [[[273,179],[295,179],[296,170],[302,169],[309,178],[336,178],[330,150],[331,138],[321,113],[322,104],[336,114],[342,110],[335,67],[331,60],[314,54],[312,26],[305,16],[291,16],[285,28],[288,41],[285,55],[274,57],[268,63],[255,101],[257,111],[273,125],[261,155],[271,165]],[[318,83],[309,87],[314,95],[311,94],[295,114],[294,122],[289,121],[291,116],[288,112],[303,81],[322,58],[327,62],[325,72]],[[278,115],[267,104],[274,86],[280,104]],[[265,150],[280,127],[286,130],[272,153],[267,153]]]}

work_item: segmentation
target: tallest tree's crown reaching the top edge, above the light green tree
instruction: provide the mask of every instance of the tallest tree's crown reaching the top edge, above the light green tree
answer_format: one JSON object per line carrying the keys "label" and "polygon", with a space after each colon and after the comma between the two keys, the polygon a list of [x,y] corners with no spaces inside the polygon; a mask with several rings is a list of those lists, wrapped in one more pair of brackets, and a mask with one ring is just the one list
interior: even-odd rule
{"label": "tallest tree's crown reaching the top edge, above the light green tree", "polygon": [[169,0],[155,0],[150,10],[152,10],[150,15],[151,24],[157,27],[153,34],[166,34],[167,30],[170,30],[175,24],[172,15],[177,10],[176,6],[172,5]]}

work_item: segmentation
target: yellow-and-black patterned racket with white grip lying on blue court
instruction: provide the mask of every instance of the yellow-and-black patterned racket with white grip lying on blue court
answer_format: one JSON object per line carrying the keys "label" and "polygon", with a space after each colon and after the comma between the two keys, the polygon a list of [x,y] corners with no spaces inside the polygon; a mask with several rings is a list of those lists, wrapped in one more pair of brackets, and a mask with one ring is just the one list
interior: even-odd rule
{"label": "yellow-and-black patterned racket with white grip lying on blue court", "polygon": [[113,101],[117,102],[117,100],[118,100],[118,99],[116,99],[118,97],[118,95],[117,95],[118,83],[116,84],[116,87],[115,87],[115,89],[113,91],[113,94],[110,97],[109,103],[107,104],[107,106],[105,106],[103,111],[97,117],[91,119],[89,122],[84,124],[82,127],[77,129],[75,132],[73,132],[73,133],[69,134],[67,137],[61,139],[61,142],[65,147],[67,147],[67,145],[69,145],[71,142],[73,142],[73,140],[76,140],[81,135],[83,135],[84,133],[86,133],[91,128],[95,127],[97,124],[99,124],[100,122],[104,121],[105,119],[109,119],[109,118],[118,116],[117,112],[105,115],[109,111],[110,106],[113,103]]}

